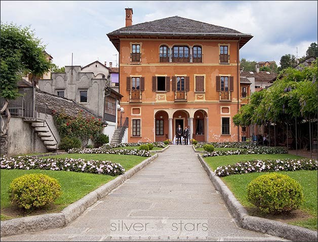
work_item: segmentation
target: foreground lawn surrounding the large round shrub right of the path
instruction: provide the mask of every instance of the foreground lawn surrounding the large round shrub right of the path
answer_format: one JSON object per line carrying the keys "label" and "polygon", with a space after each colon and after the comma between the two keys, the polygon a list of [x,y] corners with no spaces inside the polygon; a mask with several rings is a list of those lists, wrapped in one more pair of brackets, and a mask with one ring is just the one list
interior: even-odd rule
{"label": "foreground lawn surrounding the large round shrub right of the path", "polygon": [[[232,156],[234,157],[234,156]],[[221,179],[233,192],[235,198],[245,207],[255,207],[248,202],[247,185],[255,178],[268,172],[248,173],[241,175],[230,175]],[[317,171],[280,171],[279,173],[286,174],[297,180],[303,187],[305,202],[301,205],[300,210],[305,211],[314,218],[295,221],[291,224],[306,227],[312,230],[317,230]]]}

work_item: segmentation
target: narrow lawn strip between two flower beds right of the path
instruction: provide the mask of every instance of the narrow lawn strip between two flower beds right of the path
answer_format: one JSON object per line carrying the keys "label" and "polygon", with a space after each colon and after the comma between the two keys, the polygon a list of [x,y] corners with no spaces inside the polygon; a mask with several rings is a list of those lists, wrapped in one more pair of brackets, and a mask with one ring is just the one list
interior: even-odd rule
{"label": "narrow lawn strip between two flower beds right of the path", "polygon": [[231,165],[241,161],[251,160],[275,160],[275,159],[298,159],[300,156],[290,154],[265,154],[265,155],[233,155],[233,156],[214,156],[206,157],[204,160],[214,171],[218,166]]}

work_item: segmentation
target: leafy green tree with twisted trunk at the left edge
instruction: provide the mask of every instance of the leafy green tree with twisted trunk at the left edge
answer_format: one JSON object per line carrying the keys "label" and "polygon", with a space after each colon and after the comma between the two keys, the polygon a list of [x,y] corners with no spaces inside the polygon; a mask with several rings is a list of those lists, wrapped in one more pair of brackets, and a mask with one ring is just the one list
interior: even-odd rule
{"label": "leafy green tree with twisted trunk at the left edge", "polygon": [[51,63],[45,56],[45,46],[41,39],[37,38],[29,27],[16,24],[4,24],[1,22],[0,32],[0,96],[5,99],[1,114],[8,114],[7,121],[1,118],[1,135],[5,135],[9,128],[10,111],[8,104],[19,96],[18,81],[21,73],[31,72],[33,76],[43,75],[47,72]]}

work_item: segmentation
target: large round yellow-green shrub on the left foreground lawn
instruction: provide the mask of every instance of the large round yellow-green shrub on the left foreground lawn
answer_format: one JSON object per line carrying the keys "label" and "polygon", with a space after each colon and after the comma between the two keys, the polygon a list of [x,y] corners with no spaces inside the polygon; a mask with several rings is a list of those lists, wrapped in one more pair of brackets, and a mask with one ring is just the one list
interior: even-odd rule
{"label": "large round yellow-green shrub on the left foreground lawn", "polygon": [[19,208],[34,209],[53,203],[61,195],[61,185],[48,175],[27,174],[15,178],[8,192]]}

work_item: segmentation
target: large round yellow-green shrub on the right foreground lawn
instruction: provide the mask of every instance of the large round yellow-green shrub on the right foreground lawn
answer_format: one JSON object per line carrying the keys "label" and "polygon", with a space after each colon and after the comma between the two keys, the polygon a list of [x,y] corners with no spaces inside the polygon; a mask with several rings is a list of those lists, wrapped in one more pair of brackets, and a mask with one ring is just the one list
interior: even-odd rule
{"label": "large round yellow-green shrub on the right foreground lawn", "polygon": [[289,213],[304,201],[301,185],[279,173],[261,175],[247,186],[248,200],[268,214]]}

